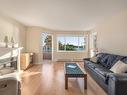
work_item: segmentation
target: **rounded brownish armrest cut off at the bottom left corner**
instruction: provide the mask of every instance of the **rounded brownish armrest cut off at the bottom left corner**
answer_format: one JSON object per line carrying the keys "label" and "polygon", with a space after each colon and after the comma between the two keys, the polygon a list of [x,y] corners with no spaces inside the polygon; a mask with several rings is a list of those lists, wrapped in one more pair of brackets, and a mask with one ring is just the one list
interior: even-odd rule
{"label": "rounded brownish armrest cut off at the bottom left corner", "polygon": [[16,78],[0,78],[0,94],[2,95],[21,95],[20,82]]}

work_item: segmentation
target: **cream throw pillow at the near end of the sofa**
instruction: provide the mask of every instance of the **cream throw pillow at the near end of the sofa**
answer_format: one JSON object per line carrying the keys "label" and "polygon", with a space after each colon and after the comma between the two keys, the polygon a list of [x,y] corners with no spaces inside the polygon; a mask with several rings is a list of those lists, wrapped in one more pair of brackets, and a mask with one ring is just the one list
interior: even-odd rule
{"label": "cream throw pillow at the near end of the sofa", "polygon": [[110,70],[114,73],[125,73],[127,72],[127,64],[119,60]]}

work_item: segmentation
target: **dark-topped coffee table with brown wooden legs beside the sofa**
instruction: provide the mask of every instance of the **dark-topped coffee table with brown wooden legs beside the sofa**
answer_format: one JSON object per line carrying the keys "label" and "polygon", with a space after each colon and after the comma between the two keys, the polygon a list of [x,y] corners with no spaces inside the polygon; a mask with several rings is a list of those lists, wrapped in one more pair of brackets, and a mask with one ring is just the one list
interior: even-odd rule
{"label": "dark-topped coffee table with brown wooden legs beside the sofa", "polygon": [[68,78],[84,78],[84,89],[87,89],[87,74],[78,63],[65,63],[65,89],[68,89]]}

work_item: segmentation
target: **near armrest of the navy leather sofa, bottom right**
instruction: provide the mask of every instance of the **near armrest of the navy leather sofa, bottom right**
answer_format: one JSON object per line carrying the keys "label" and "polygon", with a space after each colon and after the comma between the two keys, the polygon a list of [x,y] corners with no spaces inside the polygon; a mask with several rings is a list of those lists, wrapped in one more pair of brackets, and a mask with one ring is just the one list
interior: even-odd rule
{"label": "near armrest of the navy leather sofa, bottom right", "polygon": [[127,74],[108,75],[108,95],[127,95]]}

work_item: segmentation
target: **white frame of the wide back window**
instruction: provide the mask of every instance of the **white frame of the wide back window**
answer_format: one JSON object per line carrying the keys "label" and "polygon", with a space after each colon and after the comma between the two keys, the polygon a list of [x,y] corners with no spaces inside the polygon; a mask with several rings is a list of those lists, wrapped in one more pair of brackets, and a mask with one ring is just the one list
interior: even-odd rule
{"label": "white frame of the wide back window", "polygon": [[[85,37],[86,38],[86,49],[81,51],[67,51],[67,50],[59,50],[59,43],[58,43],[58,37]],[[87,52],[88,51],[88,35],[57,35],[56,37],[57,42],[57,52]],[[66,43],[66,40],[65,40]],[[79,45],[79,38],[78,38],[78,45]]]}

